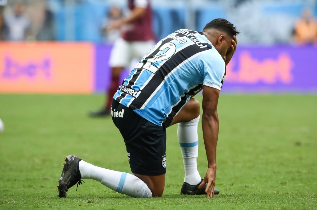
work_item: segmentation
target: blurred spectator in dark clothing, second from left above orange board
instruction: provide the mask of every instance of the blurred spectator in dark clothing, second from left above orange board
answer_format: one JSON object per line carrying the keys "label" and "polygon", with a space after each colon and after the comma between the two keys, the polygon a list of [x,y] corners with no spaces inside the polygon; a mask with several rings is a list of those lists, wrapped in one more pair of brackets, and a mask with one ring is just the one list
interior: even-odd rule
{"label": "blurred spectator in dark clothing, second from left above orange board", "polygon": [[42,26],[40,27],[38,33],[36,34],[36,40],[48,41],[55,40],[55,31],[54,31],[54,14],[46,6],[44,10],[44,20]]}

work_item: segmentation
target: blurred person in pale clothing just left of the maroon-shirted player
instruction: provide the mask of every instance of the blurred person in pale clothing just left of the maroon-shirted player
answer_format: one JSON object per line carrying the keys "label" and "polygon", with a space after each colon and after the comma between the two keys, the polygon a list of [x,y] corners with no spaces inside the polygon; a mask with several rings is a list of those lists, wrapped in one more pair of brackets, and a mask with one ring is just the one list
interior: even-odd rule
{"label": "blurred person in pale clothing just left of the maroon-shirted player", "polygon": [[107,44],[113,44],[114,41],[120,37],[120,29],[118,28],[113,28],[108,30],[107,26],[110,22],[119,20],[122,17],[122,12],[121,9],[118,7],[112,7],[109,9],[109,12],[107,14],[107,18],[105,18],[103,20],[103,24],[102,24],[102,33],[105,37],[105,42]]}

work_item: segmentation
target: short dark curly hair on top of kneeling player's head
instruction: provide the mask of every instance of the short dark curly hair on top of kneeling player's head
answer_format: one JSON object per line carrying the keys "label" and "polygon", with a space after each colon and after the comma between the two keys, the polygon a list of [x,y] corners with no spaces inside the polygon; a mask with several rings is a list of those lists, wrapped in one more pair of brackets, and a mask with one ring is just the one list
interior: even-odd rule
{"label": "short dark curly hair on top of kneeling player's head", "polygon": [[203,31],[205,31],[209,28],[218,29],[220,31],[227,33],[230,36],[233,36],[233,35],[236,36],[237,34],[240,33],[239,31],[237,31],[237,28],[232,23],[230,23],[229,21],[227,21],[224,18],[217,18],[217,19],[210,21],[204,27]]}

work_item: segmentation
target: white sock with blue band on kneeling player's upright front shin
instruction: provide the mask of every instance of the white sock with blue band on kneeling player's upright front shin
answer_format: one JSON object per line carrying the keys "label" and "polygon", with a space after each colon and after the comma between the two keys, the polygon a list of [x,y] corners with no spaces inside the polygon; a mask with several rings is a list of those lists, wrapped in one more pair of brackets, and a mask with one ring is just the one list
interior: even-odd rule
{"label": "white sock with blue band on kneeling player's upright front shin", "polygon": [[201,177],[197,170],[198,157],[198,122],[200,115],[187,123],[178,123],[177,136],[185,169],[184,182],[197,185]]}

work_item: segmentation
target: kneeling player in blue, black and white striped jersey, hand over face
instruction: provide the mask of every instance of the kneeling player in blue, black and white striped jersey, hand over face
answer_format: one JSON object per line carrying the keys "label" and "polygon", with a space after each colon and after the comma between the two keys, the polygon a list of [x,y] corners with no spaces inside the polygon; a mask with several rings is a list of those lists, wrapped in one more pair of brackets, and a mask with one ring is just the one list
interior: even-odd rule
{"label": "kneeling player in blue, black and white striped jersey, hand over face", "polygon": [[[236,51],[236,27],[225,19],[203,32],[180,29],[160,40],[132,70],[113,96],[111,115],[126,144],[132,174],[91,165],[69,155],[59,179],[59,196],[81,179],[94,179],[132,197],[162,196],[166,172],[166,128],[178,123],[185,178],[181,194],[214,197],[217,103],[225,66]],[[202,129],[208,169],[197,171],[199,102],[203,90]]]}

